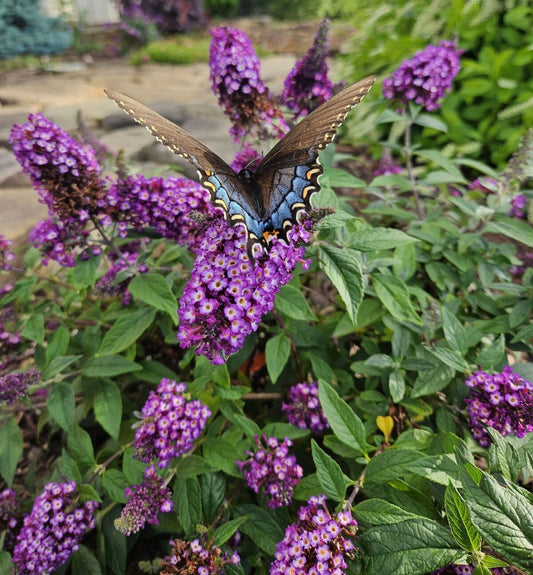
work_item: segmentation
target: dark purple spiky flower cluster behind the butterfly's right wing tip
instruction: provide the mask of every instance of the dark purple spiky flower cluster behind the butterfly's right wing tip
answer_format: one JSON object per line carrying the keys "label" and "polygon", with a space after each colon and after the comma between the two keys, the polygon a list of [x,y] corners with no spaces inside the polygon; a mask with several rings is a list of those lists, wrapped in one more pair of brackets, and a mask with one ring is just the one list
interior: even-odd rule
{"label": "dark purple spiky flower cluster behind the butterfly's right wing tip", "polygon": [[313,45],[285,79],[281,101],[295,112],[295,119],[309,114],[343,87],[342,83],[333,85],[328,77],[329,32],[330,23],[325,19]]}

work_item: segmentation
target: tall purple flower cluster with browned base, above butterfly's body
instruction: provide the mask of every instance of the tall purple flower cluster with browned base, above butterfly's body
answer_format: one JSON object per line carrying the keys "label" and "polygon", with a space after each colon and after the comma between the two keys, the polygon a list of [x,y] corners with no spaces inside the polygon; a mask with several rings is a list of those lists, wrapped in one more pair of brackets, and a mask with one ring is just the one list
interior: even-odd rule
{"label": "tall purple flower cluster with browned base, above butterfly's body", "polygon": [[260,62],[250,39],[236,28],[211,30],[210,77],[219,104],[232,121],[237,142],[254,132],[260,139],[280,138],[288,131],[281,111],[260,78]]}

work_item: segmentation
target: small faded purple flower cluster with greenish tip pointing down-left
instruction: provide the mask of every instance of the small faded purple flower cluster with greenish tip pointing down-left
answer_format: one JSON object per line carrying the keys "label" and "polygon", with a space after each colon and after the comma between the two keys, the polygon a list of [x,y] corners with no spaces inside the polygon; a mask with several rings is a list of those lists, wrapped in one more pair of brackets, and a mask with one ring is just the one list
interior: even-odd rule
{"label": "small faded purple flower cluster with greenish tip pointing down-left", "polygon": [[153,465],[144,470],[142,483],[126,487],[125,493],[126,505],[115,519],[115,527],[124,535],[139,532],[146,523],[158,525],[158,513],[172,510],[172,492]]}

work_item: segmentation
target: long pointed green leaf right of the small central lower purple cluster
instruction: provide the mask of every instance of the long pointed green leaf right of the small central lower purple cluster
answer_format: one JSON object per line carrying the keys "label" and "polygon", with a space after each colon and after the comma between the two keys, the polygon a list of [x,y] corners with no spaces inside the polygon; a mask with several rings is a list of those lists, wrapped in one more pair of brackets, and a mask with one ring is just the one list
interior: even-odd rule
{"label": "long pointed green leaf right of the small central lower purple cluster", "polygon": [[319,380],[318,396],[326,419],[335,436],[349,447],[368,457],[366,430],[351,407],[339,397],[329,383]]}

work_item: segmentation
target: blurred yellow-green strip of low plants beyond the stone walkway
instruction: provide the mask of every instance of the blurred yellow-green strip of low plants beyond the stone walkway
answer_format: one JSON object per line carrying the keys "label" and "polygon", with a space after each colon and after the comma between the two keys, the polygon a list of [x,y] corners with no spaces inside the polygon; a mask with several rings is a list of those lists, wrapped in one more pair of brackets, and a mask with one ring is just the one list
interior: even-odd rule
{"label": "blurred yellow-green strip of low plants beyond the stone walkway", "polygon": [[188,34],[164,40],[155,40],[135,52],[130,61],[132,64],[160,62],[163,64],[193,64],[207,62],[211,37]]}

